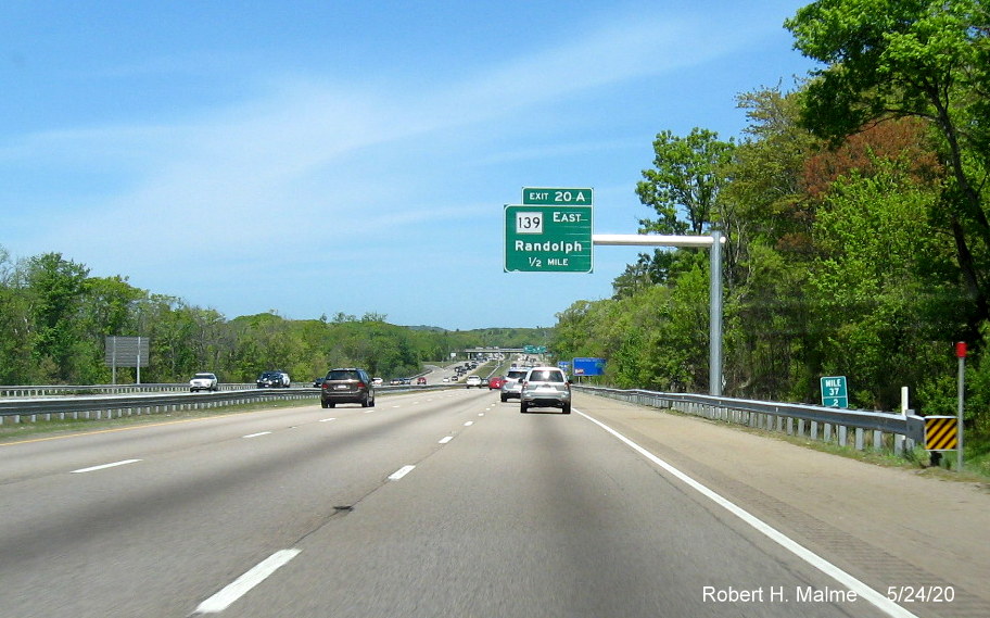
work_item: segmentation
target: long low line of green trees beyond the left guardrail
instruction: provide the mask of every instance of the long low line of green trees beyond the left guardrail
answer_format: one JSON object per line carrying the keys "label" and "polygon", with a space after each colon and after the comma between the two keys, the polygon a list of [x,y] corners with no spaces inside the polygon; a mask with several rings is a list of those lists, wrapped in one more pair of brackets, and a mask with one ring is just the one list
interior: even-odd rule
{"label": "long low line of green trees beyond the left guardrail", "polygon": [[[110,383],[107,336],[151,341],[142,382],[181,382],[212,371],[251,382],[269,369],[308,381],[335,366],[383,378],[415,375],[424,362],[449,361],[465,348],[519,348],[546,341],[547,329],[450,331],[389,324],[386,316],[337,313],[288,319],[276,312],[226,318],[212,308],[151,293],[126,277],[92,277],[60,253],[12,260],[0,247],[0,383]],[[137,378],[117,368],[117,382]]]}

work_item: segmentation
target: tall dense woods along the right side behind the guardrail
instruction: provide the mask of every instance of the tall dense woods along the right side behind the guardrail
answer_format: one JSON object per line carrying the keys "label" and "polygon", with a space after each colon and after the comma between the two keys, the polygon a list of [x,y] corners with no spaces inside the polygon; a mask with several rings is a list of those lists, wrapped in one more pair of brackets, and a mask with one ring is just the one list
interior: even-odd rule
{"label": "tall dense woods along the right side behind the guardrail", "polygon": [[[785,23],[820,68],[738,97],[740,140],[664,130],[636,187],[640,231],[721,229],[728,395],[955,414],[990,432],[990,9],[979,0],[821,0]],[[707,392],[709,263],[639,255],[611,299],[559,313],[561,357],[622,387]]]}

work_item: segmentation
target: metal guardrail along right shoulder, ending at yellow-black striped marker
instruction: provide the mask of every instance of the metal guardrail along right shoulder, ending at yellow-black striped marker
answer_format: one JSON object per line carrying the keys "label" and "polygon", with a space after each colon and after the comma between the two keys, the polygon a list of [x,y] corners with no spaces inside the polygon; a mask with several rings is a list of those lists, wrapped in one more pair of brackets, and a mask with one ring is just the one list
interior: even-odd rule
{"label": "metal guardrail along right shoulder, ending at yellow-black striped marker", "polygon": [[687,393],[661,393],[646,390],[624,390],[574,384],[575,390],[618,399],[651,407],[675,409],[684,414],[702,416],[745,425],[757,429],[786,432],[788,436],[838,442],[849,445],[849,430],[853,431],[853,446],[862,451],[866,432],[872,432],[873,447],[886,446],[885,434],[893,436],[893,451],[911,450],[924,443],[925,419],[913,414],[841,409],[820,405],[774,403],[723,396]]}

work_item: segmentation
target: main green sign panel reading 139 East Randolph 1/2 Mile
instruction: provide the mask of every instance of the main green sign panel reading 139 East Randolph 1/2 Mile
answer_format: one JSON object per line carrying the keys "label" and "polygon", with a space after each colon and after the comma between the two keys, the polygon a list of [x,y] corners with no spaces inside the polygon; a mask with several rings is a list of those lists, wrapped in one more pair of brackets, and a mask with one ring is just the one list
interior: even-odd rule
{"label": "main green sign panel reading 139 East Randolph 1/2 Mile", "polygon": [[592,207],[506,204],[506,273],[591,273]]}

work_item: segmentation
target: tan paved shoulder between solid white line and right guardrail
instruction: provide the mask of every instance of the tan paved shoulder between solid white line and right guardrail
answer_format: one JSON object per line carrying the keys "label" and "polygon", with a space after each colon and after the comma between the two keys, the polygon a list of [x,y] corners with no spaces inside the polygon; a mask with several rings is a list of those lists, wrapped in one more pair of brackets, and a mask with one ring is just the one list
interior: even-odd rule
{"label": "tan paved shoulder between solid white line and right guardrail", "polygon": [[574,405],[880,592],[952,585],[953,603],[925,607],[990,616],[990,493],[978,484],[587,393]]}

